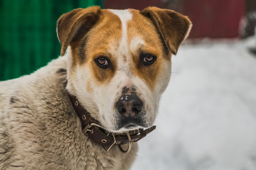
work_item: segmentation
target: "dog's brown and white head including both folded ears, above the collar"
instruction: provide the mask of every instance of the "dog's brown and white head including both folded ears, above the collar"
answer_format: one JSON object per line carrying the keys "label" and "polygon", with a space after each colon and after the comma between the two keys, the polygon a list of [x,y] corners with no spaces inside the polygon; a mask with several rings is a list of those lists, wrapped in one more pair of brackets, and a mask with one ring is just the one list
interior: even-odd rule
{"label": "dog's brown and white head including both folded ears, above the collar", "polygon": [[57,29],[61,55],[70,46],[68,90],[109,131],[148,128],[169,83],[171,53],[190,27],[186,16],[156,7],[65,13]]}

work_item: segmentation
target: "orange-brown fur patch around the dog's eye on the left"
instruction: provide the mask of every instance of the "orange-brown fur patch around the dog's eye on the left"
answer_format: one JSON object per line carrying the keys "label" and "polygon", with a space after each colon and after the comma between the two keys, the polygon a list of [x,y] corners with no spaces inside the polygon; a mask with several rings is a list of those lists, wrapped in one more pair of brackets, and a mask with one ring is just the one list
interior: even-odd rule
{"label": "orange-brown fur patch around the dog's eye on the left", "polygon": [[[119,42],[121,35],[122,23],[120,19],[107,10],[102,10],[102,17],[99,22],[87,33],[85,55],[89,60],[86,60],[85,64],[90,67],[92,74],[100,84],[107,83],[114,77],[117,59],[109,51],[110,44]],[[97,57],[100,56],[110,60],[108,69],[102,69],[95,63]]]}

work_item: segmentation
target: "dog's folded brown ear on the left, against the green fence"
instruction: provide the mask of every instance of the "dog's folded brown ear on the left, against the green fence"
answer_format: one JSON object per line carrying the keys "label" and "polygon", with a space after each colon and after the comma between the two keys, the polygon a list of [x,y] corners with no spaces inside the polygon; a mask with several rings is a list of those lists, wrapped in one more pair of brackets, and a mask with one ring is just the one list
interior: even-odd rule
{"label": "dog's folded brown ear on the left, against the green fence", "polygon": [[61,45],[60,55],[65,55],[68,45],[77,42],[100,18],[100,6],[78,8],[64,13],[58,19],[57,34]]}

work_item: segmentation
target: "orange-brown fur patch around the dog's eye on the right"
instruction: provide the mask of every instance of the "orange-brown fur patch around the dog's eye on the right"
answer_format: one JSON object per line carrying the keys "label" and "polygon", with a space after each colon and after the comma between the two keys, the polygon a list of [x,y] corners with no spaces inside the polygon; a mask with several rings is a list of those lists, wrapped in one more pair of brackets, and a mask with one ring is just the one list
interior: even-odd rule
{"label": "orange-brown fur patch around the dog's eye on the right", "polygon": [[[159,77],[160,64],[170,60],[170,57],[164,55],[164,45],[161,43],[161,38],[149,18],[142,16],[139,11],[132,10],[131,12],[133,19],[127,23],[128,41],[131,42],[137,36],[144,40],[144,45],[132,52],[132,72],[135,77],[144,80],[153,91]],[[156,61],[149,66],[145,66],[140,58],[142,54],[155,55],[157,57]]]}

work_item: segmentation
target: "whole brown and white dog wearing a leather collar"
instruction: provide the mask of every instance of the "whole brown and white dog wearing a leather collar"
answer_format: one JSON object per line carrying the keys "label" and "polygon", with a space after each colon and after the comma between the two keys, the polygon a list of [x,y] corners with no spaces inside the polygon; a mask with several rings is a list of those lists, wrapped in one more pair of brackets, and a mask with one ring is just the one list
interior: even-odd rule
{"label": "whole brown and white dog wearing a leather collar", "polygon": [[0,169],[130,169],[190,29],[157,7],[60,16],[61,56],[0,83]]}

